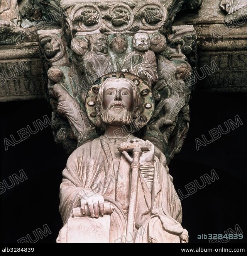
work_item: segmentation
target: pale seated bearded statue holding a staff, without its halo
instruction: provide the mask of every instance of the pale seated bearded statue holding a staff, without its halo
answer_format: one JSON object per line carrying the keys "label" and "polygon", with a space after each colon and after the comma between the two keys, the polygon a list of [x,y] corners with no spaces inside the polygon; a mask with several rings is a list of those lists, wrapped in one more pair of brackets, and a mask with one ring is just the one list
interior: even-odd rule
{"label": "pale seated bearded statue holding a staff, without its halo", "polygon": [[[103,225],[100,220],[110,215],[104,219],[109,229],[104,241],[188,242],[188,233],[181,226],[181,203],[164,154],[151,142],[144,142],[125,129],[121,136],[116,136],[117,130],[139,117],[141,97],[138,87],[129,79],[108,78],[100,86],[95,109],[97,125],[104,127],[105,133],[70,155],[60,186],[59,210],[63,224],[66,226],[78,209],[77,216],[82,220],[85,218],[83,225],[86,228],[80,232],[78,225],[75,236],[94,236],[95,233],[97,237]],[[130,188],[133,185],[134,153],[127,150],[133,145],[144,145],[139,158],[136,191]],[[136,196],[134,210],[130,206],[133,193]],[[134,224],[130,236],[128,225],[131,220]],[[58,242],[63,242],[62,230]],[[69,232],[73,233],[73,229],[66,229],[66,236]]]}

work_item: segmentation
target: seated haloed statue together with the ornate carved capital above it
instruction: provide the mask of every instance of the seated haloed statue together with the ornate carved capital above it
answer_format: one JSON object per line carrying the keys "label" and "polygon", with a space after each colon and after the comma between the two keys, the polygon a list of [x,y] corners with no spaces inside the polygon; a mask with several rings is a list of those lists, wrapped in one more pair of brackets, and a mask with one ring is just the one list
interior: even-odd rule
{"label": "seated haloed statue together with the ornate carved capital above it", "polygon": [[57,242],[188,242],[167,167],[196,67],[193,26],[172,27],[185,2],[60,4],[61,29],[38,31],[54,137],[75,150]]}

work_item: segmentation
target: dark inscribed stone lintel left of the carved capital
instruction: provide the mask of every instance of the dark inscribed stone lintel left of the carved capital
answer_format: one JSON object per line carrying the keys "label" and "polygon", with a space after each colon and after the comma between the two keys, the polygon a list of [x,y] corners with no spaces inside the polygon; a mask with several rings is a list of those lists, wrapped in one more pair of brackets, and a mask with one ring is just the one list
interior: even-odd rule
{"label": "dark inscribed stone lintel left of the carved capital", "polygon": [[0,47],[0,101],[43,98],[37,43]]}

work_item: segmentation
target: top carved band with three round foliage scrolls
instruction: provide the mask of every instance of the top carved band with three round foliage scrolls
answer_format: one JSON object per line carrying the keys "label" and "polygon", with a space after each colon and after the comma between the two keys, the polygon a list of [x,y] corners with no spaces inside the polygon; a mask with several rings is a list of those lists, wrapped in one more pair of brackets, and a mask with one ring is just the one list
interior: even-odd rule
{"label": "top carved band with three round foliage scrolls", "polygon": [[154,32],[167,21],[166,0],[144,2],[90,1],[87,3],[74,0],[62,0],[61,6],[69,17],[71,34],[98,32]]}

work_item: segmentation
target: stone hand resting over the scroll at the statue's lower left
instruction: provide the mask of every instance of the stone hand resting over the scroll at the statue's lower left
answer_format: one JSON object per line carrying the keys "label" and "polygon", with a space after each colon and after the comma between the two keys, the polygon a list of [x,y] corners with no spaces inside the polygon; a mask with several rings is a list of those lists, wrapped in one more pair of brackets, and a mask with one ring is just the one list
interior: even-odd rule
{"label": "stone hand resting over the scroll at the statue's lower left", "polygon": [[80,202],[83,215],[86,214],[86,207],[88,207],[92,218],[98,218],[99,214],[104,215],[104,198],[92,189],[88,189],[81,194]]}

